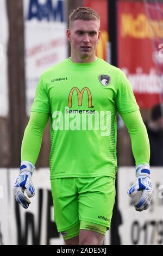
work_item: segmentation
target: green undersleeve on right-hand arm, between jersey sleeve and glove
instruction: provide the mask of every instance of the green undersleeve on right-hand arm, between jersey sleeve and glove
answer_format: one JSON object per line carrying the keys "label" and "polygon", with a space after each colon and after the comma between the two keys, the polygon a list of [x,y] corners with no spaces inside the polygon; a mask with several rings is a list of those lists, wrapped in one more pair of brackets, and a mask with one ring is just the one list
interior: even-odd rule
{"label": "green undersleeve on right-hand arm, between jersey sleeve and glove", "polygon": [[121,117],[130,134],[131,146],[136,166],[141,163],[149,163],[149,139],[140,111],[137,110],[127,114],[121,114]]}

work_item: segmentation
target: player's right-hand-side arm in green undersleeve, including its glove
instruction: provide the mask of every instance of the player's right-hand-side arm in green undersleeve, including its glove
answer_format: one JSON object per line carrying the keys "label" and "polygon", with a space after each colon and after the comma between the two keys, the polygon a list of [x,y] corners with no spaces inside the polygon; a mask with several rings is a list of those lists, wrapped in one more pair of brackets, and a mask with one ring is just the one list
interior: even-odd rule
{"label": "player's right-hand-side arm in green undersleeve, including its glove", "polygon": [[147,130],[139,110],[121,114],[121,117],[130,134],[136,163],[137,180],[129,188],[128,195],[134,197],[137,193],[141,192],[141,198],[134,206],[137,211],[143,211],[148,209],[153,194],[149,170],[150,148]]}

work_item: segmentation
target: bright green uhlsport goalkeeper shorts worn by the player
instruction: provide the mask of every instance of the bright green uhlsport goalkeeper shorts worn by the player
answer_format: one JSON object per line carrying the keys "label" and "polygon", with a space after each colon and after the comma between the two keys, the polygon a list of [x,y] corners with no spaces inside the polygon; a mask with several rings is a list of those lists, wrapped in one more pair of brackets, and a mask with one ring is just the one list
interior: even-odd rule
{"label": "bright green uhlsport goalkeeper shorts worn by the player", "polygon": [[80,222],[110,228],[115,202],[114,178],[58,178],[51,180],[51,187],[54,221],[59,232],[80,227]]}

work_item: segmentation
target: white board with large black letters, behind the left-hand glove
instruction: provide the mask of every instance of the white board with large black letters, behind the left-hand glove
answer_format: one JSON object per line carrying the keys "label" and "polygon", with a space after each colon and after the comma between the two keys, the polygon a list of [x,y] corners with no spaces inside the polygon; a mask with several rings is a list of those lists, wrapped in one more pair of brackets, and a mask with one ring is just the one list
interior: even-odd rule
{"label": "white board with large black letters, behind the left-hand glove", "polygon": [[10,169],[10,241],[13,245],[64,245],[54,223],[53,200],[48,168],[35,170],[32,181],[36,190],[29,208],[23,209],[14,199],[12,187],[18,169]]}

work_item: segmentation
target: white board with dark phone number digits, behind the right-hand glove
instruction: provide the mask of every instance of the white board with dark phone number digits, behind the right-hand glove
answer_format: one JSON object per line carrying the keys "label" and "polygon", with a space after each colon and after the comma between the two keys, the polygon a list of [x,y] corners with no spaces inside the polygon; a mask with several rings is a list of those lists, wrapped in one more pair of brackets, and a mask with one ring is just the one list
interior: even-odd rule
{"label": "white board with dark phone number digits, behind the right-hand glove", "polygon": [[118,169],[118,209],[122,217],[119,234],[122,245],[163,245],[163,169],[151,168],[153,199],[149,208],[138,212],[128,196],[135,182],[135,169]]}

